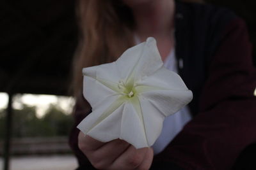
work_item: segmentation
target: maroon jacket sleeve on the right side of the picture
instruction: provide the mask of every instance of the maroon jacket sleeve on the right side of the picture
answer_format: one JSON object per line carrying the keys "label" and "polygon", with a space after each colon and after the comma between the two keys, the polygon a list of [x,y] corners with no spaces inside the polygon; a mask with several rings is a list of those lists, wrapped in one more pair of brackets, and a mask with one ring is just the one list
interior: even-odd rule
{"label": "maroon jacket sleeve on the right side of the picture", "polygon": [[200,112],[154,162],[184,169],[230,169],[256,142],[256,71],[246,25],[227,24],[200,95]]}

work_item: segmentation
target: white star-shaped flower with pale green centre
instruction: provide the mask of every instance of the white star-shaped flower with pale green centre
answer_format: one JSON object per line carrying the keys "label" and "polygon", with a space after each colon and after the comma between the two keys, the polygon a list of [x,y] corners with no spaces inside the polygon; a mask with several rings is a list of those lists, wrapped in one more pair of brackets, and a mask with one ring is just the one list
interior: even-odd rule
{"label": "white star-shaped flower with pale green centre", "polygon": [[193,96],[178,74],[163,67],[154,38],[115,62],[84,68],[83,74],[92,113],[77,127],[102,142],[119,138],[136,148],[152,146],[164,118]]}

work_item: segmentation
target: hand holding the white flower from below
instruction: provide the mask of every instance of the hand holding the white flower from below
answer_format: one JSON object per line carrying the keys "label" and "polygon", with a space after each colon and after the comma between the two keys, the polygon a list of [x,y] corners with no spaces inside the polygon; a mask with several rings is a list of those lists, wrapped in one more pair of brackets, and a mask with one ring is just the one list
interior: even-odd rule
{"label": "hand holding the white flower from below", "polygon": [[152,148],[136,149],[121,139],[102,143],[79,132],[79,149],[97,169],[149,169],[153,160]]}

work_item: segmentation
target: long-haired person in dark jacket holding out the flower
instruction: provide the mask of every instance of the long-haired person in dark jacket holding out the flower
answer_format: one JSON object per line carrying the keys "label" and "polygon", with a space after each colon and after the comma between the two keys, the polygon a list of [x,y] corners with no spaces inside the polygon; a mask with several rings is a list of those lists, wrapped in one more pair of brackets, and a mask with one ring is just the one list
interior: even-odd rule
{"label": "long-haired person in dark jacket holding out the flower", "polygon": [[[78,169],[231,169],[244,148],[256,143],[252,45],[244,21],[232,11],[174,0],[81,0],[78,7],[81,41],[70,134]],[[76,129],[91,112],[81,92],[82,68],[113,62],[149,36],[166,67],[193,91],[189,107],[177,114],[179,128],[170,126],[176,118],[164,121],[163,142],[138,150],[121,139],[102,143],[84,136]]]}

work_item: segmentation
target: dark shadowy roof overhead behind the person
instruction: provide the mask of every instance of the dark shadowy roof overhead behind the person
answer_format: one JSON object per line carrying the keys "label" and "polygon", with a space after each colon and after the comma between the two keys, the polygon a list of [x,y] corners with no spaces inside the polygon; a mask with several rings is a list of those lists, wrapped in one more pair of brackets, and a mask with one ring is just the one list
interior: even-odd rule
{"label": "dark shadowy roof overhead behind the person", "polygon": [[[256,1],[207,0],[246,20],[256,47]],[[77,45],[75,1],[0,3],[0,92],[68,95]],[[254,55],[256,50],[254,50]],[[255,59],[255,57],[254,57]]]}

